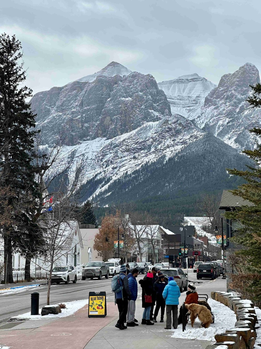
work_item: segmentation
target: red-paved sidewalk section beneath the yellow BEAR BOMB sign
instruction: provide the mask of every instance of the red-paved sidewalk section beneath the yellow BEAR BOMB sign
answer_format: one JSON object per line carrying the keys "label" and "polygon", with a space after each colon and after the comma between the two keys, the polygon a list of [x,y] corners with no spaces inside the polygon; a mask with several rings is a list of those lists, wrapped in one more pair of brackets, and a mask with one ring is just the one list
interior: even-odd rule
{"label": "red-paved sidewalk section beneath the yellow BEAR BOMB sign", "polygon": [[87,304],[74,315],[38,328],[1,331],[0,342],[12,349],[83,349],[100,329],[118,316],[118,307],[108,302],[105,318],[88,318]]}

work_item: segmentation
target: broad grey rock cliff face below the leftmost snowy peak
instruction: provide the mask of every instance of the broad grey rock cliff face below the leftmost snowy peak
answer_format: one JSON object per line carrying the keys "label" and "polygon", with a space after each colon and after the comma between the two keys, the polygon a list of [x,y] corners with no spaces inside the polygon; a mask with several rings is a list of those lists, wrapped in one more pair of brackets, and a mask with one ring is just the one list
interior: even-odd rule
{"label": "broad grey rock cliff face below the leftmost snowy peak", "polygon": [[35,94],[31,104],[45,144],[54,143],[62,125],[66,144],[74,145],[97,137],[113,138],[171,116],[166,95],[153,76],[137,72],[123,77],[99,75],[92,82],[54,87]]}

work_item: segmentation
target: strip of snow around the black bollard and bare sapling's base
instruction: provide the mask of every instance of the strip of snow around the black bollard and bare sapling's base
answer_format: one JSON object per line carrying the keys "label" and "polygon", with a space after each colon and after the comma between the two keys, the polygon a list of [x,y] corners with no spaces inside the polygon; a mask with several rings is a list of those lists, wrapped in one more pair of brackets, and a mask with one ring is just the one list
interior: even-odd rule
{"label": "strip of snow around the black bollard and bare sapling's base", "polygon": [[[39,315],[31,315],[31,312],[21,314],[21,315],[16,315],[12,319],[17,319],[17,320],[39,320],[39,319],[57,319],[57,318],[65,318],[66,316],[70,316],[74,314],[77,310],[81,309],[84,307],[86,304],[89,303],[88,299],[80,299],[80,300],[73,300],[72,302],[64,302],[66,305],[66,309],[62,309],[62,312],[60,314],[48,314],[48,315],[41,315],[41,310],[39,309]],[[58,304],[53,304],[53,306],[58,305]]]}

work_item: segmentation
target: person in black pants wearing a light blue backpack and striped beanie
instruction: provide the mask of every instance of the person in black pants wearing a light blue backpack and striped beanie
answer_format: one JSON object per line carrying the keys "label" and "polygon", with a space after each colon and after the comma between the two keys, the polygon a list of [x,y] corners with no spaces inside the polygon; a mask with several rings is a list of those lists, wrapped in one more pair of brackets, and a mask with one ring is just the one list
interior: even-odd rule
{"label": "person in black pants wearing a light blue backpack and striped beanie", "polygon": [[123,285],[123,289],[115,294],[116,304],[119,310],[119,320],[117,321],[115,327],[119,329],[125,329],[127,328],[127,326],[124,325],[124,321],[128,312],[128,300],[132,298],[132,293],[129,290],[129,281],[125,265],[122,265],[120,267],[120,280]]}

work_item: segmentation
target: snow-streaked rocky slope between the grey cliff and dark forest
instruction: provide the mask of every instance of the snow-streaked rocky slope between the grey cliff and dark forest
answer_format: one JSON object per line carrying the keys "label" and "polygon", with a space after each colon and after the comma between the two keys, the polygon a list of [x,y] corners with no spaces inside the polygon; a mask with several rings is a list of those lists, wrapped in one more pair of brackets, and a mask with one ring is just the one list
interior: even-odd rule
{"label": "snow-streaked rocky slope between the grey cliff and dark forest", "polygon": [[145,162],[156,162],[162,156],[167,160],[174,156],[176,151],[203,135],[204,132],[189,120],[175,115],[170,119],[148,122],[134,131],[112,139],[96,138],[76,146],[65,146],[60,155],[60,165],[56,166],[55,171],[66,165],[64,159],[70,158],[74,153],[75,158],[70,172],[74,173],[77,162],[81,160],[84,164],[83,183],[93,177],[102,179],[101,185],[92,193],[97,195],[126,171],[131,173]]}

